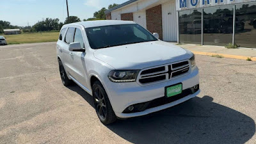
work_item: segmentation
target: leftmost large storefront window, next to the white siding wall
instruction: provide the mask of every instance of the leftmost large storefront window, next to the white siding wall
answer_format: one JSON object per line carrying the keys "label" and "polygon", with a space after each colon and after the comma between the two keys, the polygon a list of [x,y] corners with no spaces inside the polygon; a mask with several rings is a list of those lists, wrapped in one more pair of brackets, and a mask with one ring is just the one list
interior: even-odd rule
{"label": "leftmost large storefront window, next to the white siding wall", "polygon": [[202,10],[179,12],[180,43],[201,44]]}

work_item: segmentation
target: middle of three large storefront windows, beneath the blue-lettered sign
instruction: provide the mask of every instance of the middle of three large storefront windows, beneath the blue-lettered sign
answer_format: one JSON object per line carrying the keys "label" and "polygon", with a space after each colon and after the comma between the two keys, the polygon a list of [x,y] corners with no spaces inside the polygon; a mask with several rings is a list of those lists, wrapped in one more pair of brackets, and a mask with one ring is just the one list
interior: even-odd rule
{"label": "middle of three large storefront windows, beneath the blue-lettered sign", "polygon": [[204,8],[204,44],[232,44],[234,6]]}

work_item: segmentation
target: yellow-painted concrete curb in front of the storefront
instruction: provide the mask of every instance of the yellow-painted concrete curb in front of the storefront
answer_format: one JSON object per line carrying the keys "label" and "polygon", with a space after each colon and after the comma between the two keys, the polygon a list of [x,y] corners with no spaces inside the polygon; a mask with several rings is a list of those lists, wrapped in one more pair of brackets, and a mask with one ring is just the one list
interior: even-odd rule
{"label": "yellow-painted concrete curb in front of the storefront", "polygon": [[252,61],[256,61],[256,57],[250,57],[250,56],[237,56],[232,54],[220,54],[220,53],[214,53],[214,52],[200,52],[200,51],[192,51],[194,54],[200,54],[204,56],[214,56],[214,55],[220,55],[223,56],[223,58],[233,58],[233,59],[239,59],[239,60],[247,60],[247,58],[251,58]]}

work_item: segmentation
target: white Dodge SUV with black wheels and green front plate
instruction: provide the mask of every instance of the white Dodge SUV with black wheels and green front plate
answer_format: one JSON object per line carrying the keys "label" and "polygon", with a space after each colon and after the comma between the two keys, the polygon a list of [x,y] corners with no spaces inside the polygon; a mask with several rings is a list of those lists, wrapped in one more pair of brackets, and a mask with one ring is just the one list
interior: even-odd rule
{"label": "white Dodge SUV with black wheels and green front plate", "polygon": [[61,80],[92,95],[103,124],[170,108],[200,93],[192,52],[131,21],[66,24],[57,42]]}

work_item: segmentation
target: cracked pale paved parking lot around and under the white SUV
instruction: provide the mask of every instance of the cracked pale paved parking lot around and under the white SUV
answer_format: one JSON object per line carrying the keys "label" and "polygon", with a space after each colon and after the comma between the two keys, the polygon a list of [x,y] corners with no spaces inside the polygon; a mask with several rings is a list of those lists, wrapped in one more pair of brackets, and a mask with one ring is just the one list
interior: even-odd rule
{"label": "cracked pale paved parking lot around and under the white SUV", "polygon": [[0,143],[256,143],[256,62],[196,55],[198,97],[104,126],[61,83],[56,43],[0,47]]}

